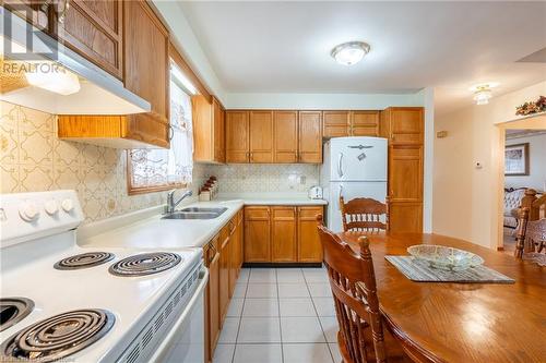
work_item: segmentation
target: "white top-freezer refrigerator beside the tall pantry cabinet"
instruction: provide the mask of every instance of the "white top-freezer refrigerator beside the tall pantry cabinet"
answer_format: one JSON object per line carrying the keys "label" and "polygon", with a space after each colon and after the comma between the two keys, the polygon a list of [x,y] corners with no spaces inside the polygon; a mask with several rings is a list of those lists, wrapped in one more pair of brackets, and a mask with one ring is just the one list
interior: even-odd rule
{"label": "white top-freezer refrigerator beside the tall pantry cabinet", "polygon": [[320,170],[323,195],[328,199],[327,226],[343,230],[340,196],[345,202],[369,197],[381,203],[387,197],[387,138],[335,137],[324,144]]}

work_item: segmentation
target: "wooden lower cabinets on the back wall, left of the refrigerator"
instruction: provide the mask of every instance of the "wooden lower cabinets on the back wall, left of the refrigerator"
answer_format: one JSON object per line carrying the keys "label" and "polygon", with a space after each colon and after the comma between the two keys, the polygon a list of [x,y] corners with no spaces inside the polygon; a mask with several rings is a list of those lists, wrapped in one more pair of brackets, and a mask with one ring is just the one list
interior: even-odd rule
{"label": "wooden lower cabinets on the back wall, left of the refrigerator", "polygon": [[245,263],[321,263],[317,215],[322,206],[245,208]]}

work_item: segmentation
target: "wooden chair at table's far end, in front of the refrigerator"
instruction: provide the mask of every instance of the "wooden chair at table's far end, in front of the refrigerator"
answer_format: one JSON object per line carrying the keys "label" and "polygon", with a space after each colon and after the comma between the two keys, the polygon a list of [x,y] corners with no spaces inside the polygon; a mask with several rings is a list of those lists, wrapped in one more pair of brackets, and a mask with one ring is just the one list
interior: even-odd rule
{"label": "wooden chair at table's far end, in front of the refrigerator", "polygon": [[[385,204],[372,198],[355,198],[345,203],[340,196],[343,231],[378,232],[389,230],[389,197]],[[381,218],[384,216],[384,222]]]}

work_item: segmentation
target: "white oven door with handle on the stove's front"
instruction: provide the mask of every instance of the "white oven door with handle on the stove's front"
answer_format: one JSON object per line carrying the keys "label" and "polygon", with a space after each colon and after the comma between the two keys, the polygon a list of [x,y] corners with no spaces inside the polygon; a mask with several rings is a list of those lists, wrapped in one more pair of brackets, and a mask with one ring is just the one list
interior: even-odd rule
{"label": "white oven door with handle on the stove's front", "polygon": [[204,289],[207,281],[209,270],[203,268],[193,297],[150,362],[204,362]]}

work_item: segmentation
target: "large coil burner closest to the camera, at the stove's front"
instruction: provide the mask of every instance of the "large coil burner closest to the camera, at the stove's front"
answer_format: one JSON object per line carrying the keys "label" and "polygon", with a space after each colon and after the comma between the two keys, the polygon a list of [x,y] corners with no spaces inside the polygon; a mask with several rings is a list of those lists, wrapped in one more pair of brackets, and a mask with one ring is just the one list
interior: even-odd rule
{"label": "large coil burner closest to the camera, at the stove's front", "polygon": [[52,362],[100,339],[116,318],[99,308],[76,310],[37,322],[0,346],[0,361]]}

